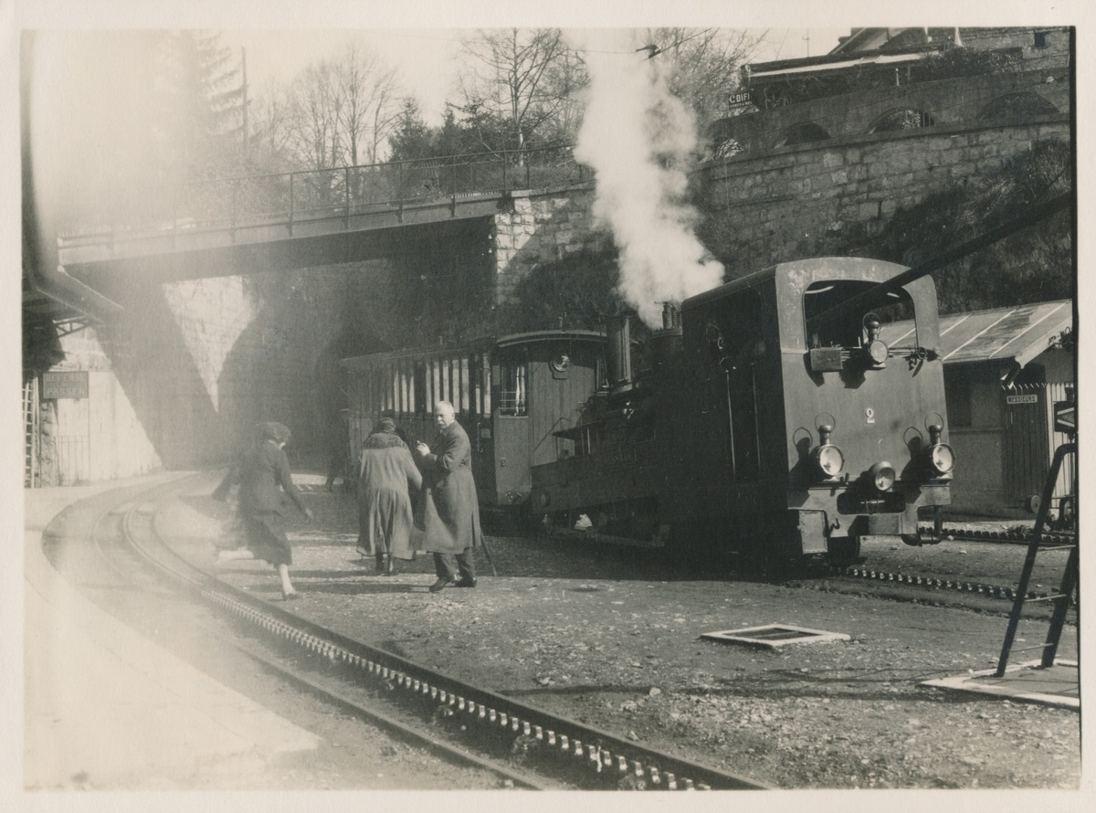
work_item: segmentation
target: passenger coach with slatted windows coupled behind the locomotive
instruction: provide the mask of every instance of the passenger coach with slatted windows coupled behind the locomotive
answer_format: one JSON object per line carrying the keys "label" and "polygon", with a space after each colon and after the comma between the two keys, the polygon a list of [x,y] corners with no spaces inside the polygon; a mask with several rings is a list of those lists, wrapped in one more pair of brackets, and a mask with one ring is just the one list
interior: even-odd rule
{"label": "passenger coach with slatted windows coupled behind the locomotive", "polygon": [[431,350],[346,358],[352,459],[385,410],[415,440],[434,437],[432,410],[450,401],[472,443],[481,507],[527,517],[533,466],[573,454],[573,426],[604,379],[605,334],[536,331]]}

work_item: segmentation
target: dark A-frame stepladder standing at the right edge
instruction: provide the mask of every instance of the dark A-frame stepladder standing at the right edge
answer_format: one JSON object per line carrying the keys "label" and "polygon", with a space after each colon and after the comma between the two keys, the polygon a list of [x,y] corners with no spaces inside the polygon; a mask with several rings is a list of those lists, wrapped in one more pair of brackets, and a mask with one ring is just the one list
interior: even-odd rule
{"label": "dark A-frame stepladder standing at the right edge", "polygon": [[[1072,404],[1070,404],[1072,406]],[[1055,413],[1059,404],[1055,404]],[[1059,423],[1055,421],[1055,423]],[[1071,428],[1064,428],[1065,424],[1061,424],[1055,428],[1059,431],[1066,431],[1073,433]],[[1042,488],[1042,496],[1039,503],[1039,513],[1036,517],[1035,529],[1031,531],[1031,541],[1028,543],[1027,558],[1024,560],[1024,571],[1020,573],[1020,582],[1016,587],[1016,598],[1013,602],[1013,611],[1008,617],[1008,631],[1005,633],[1005,642],[1001,648],[1001,657],[997,659],[997,671],[994,673],[995,677],[1003,677],[1005,674],[1005,667],[1008,665],[1008,655],[1014,651],[1013,642],[1016,639],[1016,628],[1020,622],[1020,612],[1024,609],[1024,604],[1026,602],[1051,602],[1054,605],[1054,611],[1050,618],[1050,629],[1047,631],[1047,640],[1037,646],[1025,646],[1016,652],[1027,652],[1030,650],[1042,650],[1042,661],[1040,662],[1041,668],[1047,668],[1054,665],[1054,656],[1058,654],[1058,642],[1062,637],[1062,628],[1065,626],[1065,614],[1070,608],[1070,603],[1073,599],[1073,595],[1077,589],[1077,537],[1074,536],[1074,541],[1072,545],[1047,545],[1043,541],[1043,529],[1047,525],[1047,515],[1050,509],[1050,500],[1054,493],[1054,483],[1058,482],[1058,474],[1062,468],[1062,461],[1068,455],[1073,456],[1073,465],[1076,466],[1076,454],[1077,444],[1065,443],[1058,447],[1054,451],[1054,459],[1050,465],[1050,471],[1047,474],[1047,481]],[[1076,478],[1074,478],[1076,482]],[[1074,505],[1078,505],[1074,499]],[[1027,588],[1028,582],[1031,579],[1031,570],[1035,566],[1035,558],[1039,551],[1049,550],[1069,550],[1070,556],[1065,562],[1065,572],[1062,574],[1062,584],[1059,591],[1049,596],[1041,596],[1038,598],[1028,598]],[[1080,602],[1080,597],[1078,597]]]}

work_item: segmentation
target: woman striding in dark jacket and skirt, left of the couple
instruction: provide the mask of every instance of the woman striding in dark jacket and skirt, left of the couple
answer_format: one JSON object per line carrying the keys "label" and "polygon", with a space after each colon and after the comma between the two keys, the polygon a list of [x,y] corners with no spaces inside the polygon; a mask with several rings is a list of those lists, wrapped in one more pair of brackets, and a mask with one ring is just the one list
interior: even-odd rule
{"label": "woman striding in dark jacket and skirt, left of the couple", "polygon": [[[293,476],[289,473],[289,460],[285,456],[289,430],[279,423],[264,423],[259,426],[259,443],[243,456],[238,470],[239,511],[247,534],[246,547],[219,551],[217,564],[237,559],[263,559],[270,562],[282,580],[282,597],[288,600],[297,598],[297,592],[289,582],[293,550],[285,536],[282,492],[309,519],[312,518],[312,512],[301,501],[300,492],[293,484]],[[278,486],[282,491],[278,491]]]}

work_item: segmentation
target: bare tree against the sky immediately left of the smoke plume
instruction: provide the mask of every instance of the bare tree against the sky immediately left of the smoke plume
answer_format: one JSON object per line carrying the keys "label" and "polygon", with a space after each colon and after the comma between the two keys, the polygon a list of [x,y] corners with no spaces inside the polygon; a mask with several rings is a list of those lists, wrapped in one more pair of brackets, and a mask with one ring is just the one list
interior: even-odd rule
{"label": "bare tree against the sky immediately left of the smoke plume", "polygon": [[552,69],[569,58],[558,28],[479,31],[463,50],[471,66],[459,79],[466,110],[510,123],[518,148],[570,101],[551,81]]}

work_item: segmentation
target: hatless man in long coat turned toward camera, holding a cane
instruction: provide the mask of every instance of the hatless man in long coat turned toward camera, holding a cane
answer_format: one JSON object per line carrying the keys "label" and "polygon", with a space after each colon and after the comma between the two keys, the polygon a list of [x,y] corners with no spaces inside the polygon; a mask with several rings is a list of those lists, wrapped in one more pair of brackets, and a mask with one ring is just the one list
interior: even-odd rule
{"label": "hatless man in long coat turned toward camera, holding a cane", "polygon": [[421,442],[416,447],[423,471],[416,524],[423,531],[422,548],[434,554],[437,572],[431,593],[450,584],[458,572],[457,587],[475,587],[472,548],[483,541],[468,434],[456,422],[448,401],[434,405],[434,423],[438,435],[433,448]]}

